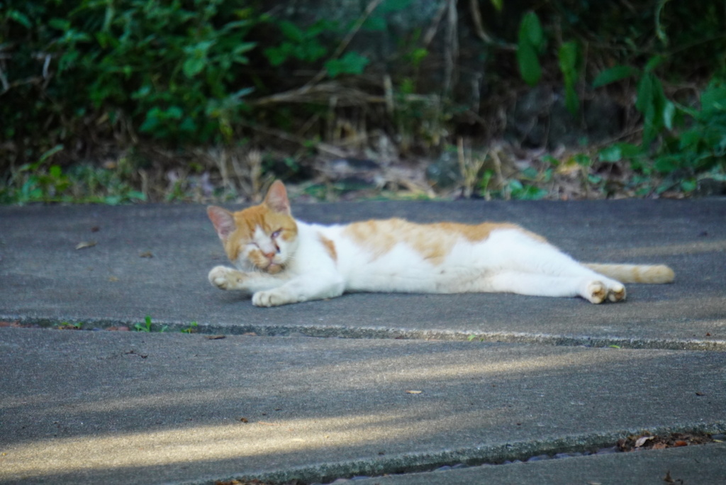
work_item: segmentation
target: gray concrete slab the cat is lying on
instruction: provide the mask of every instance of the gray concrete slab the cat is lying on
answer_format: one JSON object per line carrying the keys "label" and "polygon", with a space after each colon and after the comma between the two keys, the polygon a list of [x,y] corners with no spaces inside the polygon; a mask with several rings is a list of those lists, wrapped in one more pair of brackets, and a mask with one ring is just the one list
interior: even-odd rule
{"label": "gray concrete slab the cat is lying on", "polygon": [[[211,332],[466,338],[726,349],[726,200],[301,205],[324,223],[514,221],[585,261],[671,265],[673,285],[629,285],[623,304],[497,294],[356,294],[275,309],[206,281],[224,264],[200,205],[0,207],[0,318],[199,322]],[[94,232],[96,231],[96,232]],[[95,242],[91,248],[76,245]],[[147,257],[144,257],[147,256]],[[151,256],[151,257],[148,257]]]}

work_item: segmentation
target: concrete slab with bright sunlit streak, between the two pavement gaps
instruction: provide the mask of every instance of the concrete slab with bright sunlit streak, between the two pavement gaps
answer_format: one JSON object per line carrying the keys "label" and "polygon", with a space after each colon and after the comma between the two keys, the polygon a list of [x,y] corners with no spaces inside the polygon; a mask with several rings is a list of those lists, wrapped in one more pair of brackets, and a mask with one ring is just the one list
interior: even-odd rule
{"label": "concrete slab with bright sunlit streak, between the two pavement gaps", "polygon": [[211,483],[725,428],[726,353],[0,328],[0,481]]}

